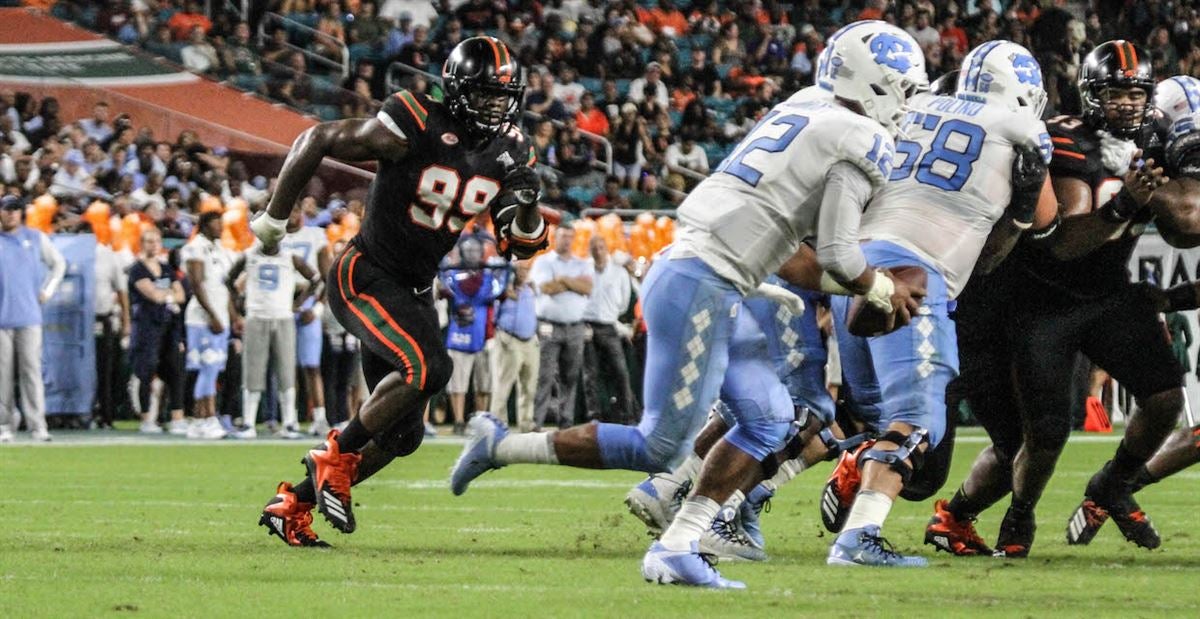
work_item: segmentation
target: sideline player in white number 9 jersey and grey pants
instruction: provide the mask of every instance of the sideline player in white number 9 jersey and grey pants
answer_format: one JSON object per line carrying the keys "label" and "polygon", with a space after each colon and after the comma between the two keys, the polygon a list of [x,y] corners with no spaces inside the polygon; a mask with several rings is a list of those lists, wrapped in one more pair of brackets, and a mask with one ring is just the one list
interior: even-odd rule
{"label": "sideline player in white number 9 jersey and grey pants", "polygon": [[[242,333],[241,355],[241,419],[246,428],[236,438],[258,437],[254,429],[258,403],[266,391],[266,366],[274,361],[275,379],[281,395],[283,423],[280,438],[301,438],[296,419],[295,390],[295,310],[320,294],[320,276],[299,256],[275,248],[265,253],[263,244],[256,242],[234,263],[226,280],[230,296],[238,296],[238,278],[246,272],[245,312],[246,326]],[[296,274],[308,286],[296,296]]]}

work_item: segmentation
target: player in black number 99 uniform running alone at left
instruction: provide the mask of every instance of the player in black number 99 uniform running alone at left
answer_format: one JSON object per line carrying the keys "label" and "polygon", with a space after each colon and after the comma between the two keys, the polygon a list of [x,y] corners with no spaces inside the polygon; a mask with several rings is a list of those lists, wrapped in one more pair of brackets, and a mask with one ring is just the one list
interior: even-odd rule
{"label": "player in black number 99 uniform running alone at left", "polygon": [[358,417],[304,457],[308,476],[282,482],[259,524],[290,546],[325,546],[316,506],[342,533],[355,528],[350,486],[421,444],[421,413],[450,378],[433,310],[438,263],[467,222],[490,209],[502,253],[526,258],[546,246],[534,151],[518,128],[524,82],[500,41],[473,37],[443,70],[445,101],[402,90],[374,118],[323,122],[292,145],[278,187],[251,224],[280,242],[304,186],[324,157],[377,161],[361,230],[334,262],[328,302],[364,342],[371,390]]}

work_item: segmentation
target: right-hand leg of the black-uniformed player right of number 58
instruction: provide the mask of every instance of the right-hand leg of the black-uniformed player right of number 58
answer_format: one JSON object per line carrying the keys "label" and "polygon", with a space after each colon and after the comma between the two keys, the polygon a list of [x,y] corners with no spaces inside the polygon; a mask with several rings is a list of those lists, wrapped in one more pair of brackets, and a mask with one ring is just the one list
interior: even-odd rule
{"label": "right-hand leg of the black-uniformed player right of number 58", "polygon": [[[1138,354],[1130,355],[1130,350]],[[1138,408],[1112,459],[1088,481],[1084,503],[1068,523],[1067,539],[1086,543],[1094,535],[1090,525],[1096,516],[1106,513],[1127,540],[1157,548],[1162,540],[1133,492],[1139,473],[1183,411],[1183,368],[1171,351],[1157,308],[1133,287],[1105,304],[1085,338],[1084,353],[1133,393]]]}

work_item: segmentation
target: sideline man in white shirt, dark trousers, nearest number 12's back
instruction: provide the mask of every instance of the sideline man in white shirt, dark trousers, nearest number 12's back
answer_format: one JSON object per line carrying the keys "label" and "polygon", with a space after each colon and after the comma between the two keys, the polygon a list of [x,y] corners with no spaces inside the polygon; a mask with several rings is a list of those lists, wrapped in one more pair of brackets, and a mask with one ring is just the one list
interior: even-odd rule
{"label": "sideline man in white shirt, dark trousers, nearest number 12's back", "polygon": [[[583,401],[588,407],[588,419],[632,423],[634,390],[625,363],[624,341],[632,337],[634,331],[619,318],[631,305],[634,282],[624,265],[608,256],[604,236],[593,236],[588,248],[594,272],[588,307],[583,311],[583,321],[590,332],[583,355]],[[608,391],[617,398],[611,415],[601,410],[596,392],[601,380],[607,383]]]}

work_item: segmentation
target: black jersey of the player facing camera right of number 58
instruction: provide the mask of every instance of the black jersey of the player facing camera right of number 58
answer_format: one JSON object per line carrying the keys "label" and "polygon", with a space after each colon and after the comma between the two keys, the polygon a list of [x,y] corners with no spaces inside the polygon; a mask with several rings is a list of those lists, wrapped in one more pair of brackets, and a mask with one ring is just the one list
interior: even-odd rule
{"label": "black jersey of the player facing camera right of number 58", "polygon": [[[1121,191],[1120,176],[1104,169],[1100,160],[1100,137],[1093,127],[1078,116],[1057,116],[1046,121],[1054,144],[1050,160],[1051,178],[1082,180],[1092,190],[1092,210],[1100,208]],[[1146,137],[1139,140],[1142,158],[1162,161],[1162,142],[1151,124]],[[1120,234],[1108,240],[1087,256],[1074,260],[1060,260],[1049,250],[1034,244],[1019,244],[1013,250],[1010,274],[1025,290],[1039,301],[1072,304],[1080,300],[1106,296],[1129,283],[1129,257],[1138,238],[1153,217],[1142,210],[1124,226]]]}

